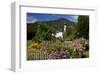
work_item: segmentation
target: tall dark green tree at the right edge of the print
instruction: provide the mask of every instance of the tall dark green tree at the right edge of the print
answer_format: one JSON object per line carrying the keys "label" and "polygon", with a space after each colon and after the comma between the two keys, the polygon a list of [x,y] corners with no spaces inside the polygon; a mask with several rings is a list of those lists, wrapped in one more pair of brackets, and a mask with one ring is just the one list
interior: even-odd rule
{"label": "tall dark green tree at the right edge of the print", "polygon": [[89,38],[89,16],[79,16],[77,23],[77,36]]}

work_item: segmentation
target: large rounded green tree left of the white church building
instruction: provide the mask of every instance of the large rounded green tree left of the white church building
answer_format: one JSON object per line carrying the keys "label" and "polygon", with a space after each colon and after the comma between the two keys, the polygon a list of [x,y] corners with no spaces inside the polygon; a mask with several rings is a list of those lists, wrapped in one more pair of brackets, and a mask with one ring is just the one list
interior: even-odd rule
{"label": "large rounded green tree left of the white church building", "polygon": [[53,29],[49,27],[45,23],[39,23],[36,27],[36,35],[35,35],[35,40],[37,41],[43,41],[43,40],[52,40],[52,32]]}

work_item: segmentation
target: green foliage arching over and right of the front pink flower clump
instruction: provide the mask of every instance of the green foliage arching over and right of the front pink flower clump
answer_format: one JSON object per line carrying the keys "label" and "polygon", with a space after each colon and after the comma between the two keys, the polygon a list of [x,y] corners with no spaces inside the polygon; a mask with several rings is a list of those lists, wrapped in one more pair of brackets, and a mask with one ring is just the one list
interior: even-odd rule
{"label": "green foliage arching over and right of the front pink flower clump", "polygon": [[81,58],[82,54],[78,53],[75,51],[75,48],[72,46],[65,46],[65,45],[59,45],[59,44],[53,44],[52,46],[50,46],[48,48],[48,52],[55,52],[55,51],[59,51],[60,49],[64,49],[66,51],[66,54],[69,53],[69,58]]}

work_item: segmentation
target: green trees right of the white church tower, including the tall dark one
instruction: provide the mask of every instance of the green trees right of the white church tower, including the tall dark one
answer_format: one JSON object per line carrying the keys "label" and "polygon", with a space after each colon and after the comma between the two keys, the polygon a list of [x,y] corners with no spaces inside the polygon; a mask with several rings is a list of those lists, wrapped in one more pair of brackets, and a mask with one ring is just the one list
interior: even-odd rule
{"label": "green trees right of the white church tower, including the tall dark one", "polygon": [[67,27],[64,39],[73,40],[75,38],[89,38],[89,16],[79,16],[75,25]]}

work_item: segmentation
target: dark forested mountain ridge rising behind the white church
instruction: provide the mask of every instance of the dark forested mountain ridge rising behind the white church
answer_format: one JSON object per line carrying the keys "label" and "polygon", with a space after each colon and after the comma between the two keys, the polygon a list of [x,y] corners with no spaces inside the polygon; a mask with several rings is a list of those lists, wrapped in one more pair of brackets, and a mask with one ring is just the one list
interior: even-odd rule
{"label": "dark forested mountain ridge rising behind the white church", "polygon": [[50,21],[42,21],[42,22],[35,22],[35,23],[27,23],[27,26],[30,25],[38,25],[39,23],[47,24],[48,26],[52,27],[53,29],[56,29],[56,31],[63,31],[64,24],[67,26],[74,25],[75,22],[69,21],[65,18],[59,18],[56,20],[50,20]]}

